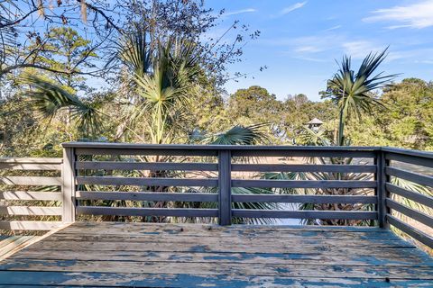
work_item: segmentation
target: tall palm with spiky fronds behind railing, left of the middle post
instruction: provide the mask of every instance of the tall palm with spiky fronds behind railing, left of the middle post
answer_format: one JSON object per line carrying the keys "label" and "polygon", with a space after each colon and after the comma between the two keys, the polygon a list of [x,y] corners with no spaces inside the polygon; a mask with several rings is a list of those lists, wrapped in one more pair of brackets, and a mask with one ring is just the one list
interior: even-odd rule
{"label": "tall palm with spiky fronds behind railing, left of the middle post", "polygon": [[129,89],[135,95],[134,109],[127,121],[130,126],[146,121],[152,143],[169,143],[195,95],[200,73],[197,46],[173,37],[151,45],[146,34],[137,26],[118,47],[117,57],[133,74]]}

